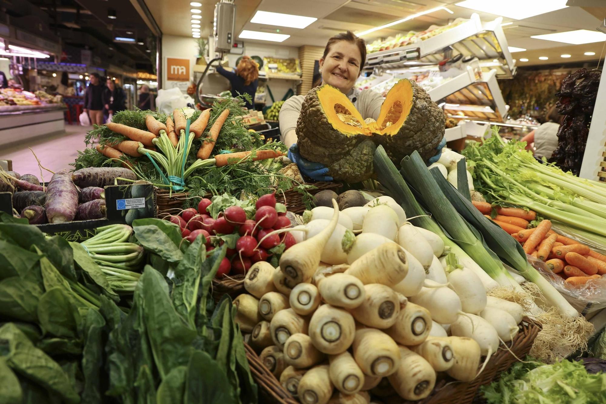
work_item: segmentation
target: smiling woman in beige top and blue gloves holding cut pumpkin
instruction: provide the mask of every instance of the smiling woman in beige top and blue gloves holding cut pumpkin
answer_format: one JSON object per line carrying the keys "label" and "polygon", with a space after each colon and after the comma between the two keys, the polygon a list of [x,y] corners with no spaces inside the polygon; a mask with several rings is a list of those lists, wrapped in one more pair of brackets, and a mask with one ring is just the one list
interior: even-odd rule
{"label": "smiling woman in beige top and blue gloves holding cut pumpkin", "polygon": [[[355,89],[356,80],[366,61],[366,44],[351,31],[340,33],[328,39],[324,55],[319,60],[319,70],[324,84],[336,87],[347,95],[363,118],[377,120],[381,112],[383,98],[373,90]],[[305,96],[295,95],[287,99],[279,114],[281,140],[288,149],[288,158],[297,164],[302,174],[316,181],[331,181],[328,168],[324,164],[305,160],[299,155],[296,145],[296,126]],[[438,154],[430,158],[430,163],[438,161],[445,140],[437,148]]]}

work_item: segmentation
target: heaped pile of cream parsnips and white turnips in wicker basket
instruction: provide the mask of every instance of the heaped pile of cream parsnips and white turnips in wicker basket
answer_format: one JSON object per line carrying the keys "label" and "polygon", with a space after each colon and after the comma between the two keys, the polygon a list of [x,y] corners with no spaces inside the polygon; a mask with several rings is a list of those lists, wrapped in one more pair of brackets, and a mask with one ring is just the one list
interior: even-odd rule
{"label": "heaped pile of cream parsnips and white turnips in wicker basket", "polygon": [[441,263],[444,243],[408,223],[393,199],[340,214],[333,205],[307,215],[278,268],[255,263],[249,294],[234,301],[251,346],[300,402],[420,400],[436,372],[473,380],[481,355],[487,363],[517,334],[522,307],[487,297],[454,254]]}

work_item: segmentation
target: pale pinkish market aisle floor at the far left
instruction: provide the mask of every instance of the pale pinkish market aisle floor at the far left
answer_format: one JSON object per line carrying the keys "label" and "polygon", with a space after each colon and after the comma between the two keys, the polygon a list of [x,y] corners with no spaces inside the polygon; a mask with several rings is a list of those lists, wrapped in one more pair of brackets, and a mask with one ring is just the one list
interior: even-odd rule
{"label": "pale pinkish market aisle floor at the far left", "polygon": [[[24,141],[14,147],[0,151],[0,158],[13,160],[13,170],[20,174],[30,173],[40,177],[38,162],[28,147],[36,153],[42,166],[59,171],[72,169],[69,163],[76,160],[77,150],[84,149],[84,135],[92,126],[65,125],[65,133],[46,138]],[[47,177],[48,175],[48,177]],[[44,179],[50,180],[50,173],[44,172]]]}

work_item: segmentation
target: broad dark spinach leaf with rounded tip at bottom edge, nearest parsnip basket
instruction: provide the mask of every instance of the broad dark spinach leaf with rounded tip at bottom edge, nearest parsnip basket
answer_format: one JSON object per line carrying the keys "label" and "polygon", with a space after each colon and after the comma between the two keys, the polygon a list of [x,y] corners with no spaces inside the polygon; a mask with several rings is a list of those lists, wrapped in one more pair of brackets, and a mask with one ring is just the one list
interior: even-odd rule
{"label": "broad dark spinach leaf with rounded tip at bottom edge, nearest parsnip basket", "polygon": [[225,373],[217,367],[206,352],[193,351],[187,365],[185,403],[238,403]]}

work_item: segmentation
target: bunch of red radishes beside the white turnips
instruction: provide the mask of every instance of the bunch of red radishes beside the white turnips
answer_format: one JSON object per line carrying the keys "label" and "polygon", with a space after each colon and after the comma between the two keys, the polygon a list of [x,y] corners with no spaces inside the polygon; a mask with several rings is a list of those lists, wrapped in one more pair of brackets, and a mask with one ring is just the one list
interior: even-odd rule
{"label": "bunch of red radishes beside the white turnips", "polygon": [[242,206],[233,204],[213,218],[209,209],[211,204],[213,201],[204,198],[198,209],[190,207],[167,220],[177,224],[182,237],[190,243],[204,236],[207,252],[227,243],[227,254],[219,266],[218,278],[245,274],[258,261],[273,259],[277,266],[279,255],[296,244],[295,237],[289,232],[276,232],[292,227],[292,224],[286,217],[284,205],[276,203],[275,192],[259,197],[252,216],[250,209],[247,215]]}

